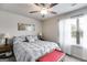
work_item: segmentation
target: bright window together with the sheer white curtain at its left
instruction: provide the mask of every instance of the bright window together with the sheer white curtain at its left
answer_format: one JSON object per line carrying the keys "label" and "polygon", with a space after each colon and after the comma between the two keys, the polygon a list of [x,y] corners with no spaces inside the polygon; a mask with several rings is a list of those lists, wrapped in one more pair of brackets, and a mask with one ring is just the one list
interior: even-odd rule
{"label": "bright window together with the sheer white curtain at its left", "polygon": [[70,54],[70,45],[87,47],[87,15],[59,21],[59,43]]}

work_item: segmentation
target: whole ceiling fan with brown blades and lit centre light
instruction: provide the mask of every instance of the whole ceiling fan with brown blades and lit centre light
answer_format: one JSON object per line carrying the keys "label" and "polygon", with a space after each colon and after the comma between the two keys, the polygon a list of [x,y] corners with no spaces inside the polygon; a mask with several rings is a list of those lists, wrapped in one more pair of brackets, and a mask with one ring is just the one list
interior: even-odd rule
{"label": "whole ceiling fan with brown blades and lit centre light", "polygon": [[51,8],[55,7],[58,3],[34,3],[35,6],[40,7],[40,11],[30,11],[29,13],[41,13],[44,18],[47,13],[57,14],[57,12],[51,11]]}

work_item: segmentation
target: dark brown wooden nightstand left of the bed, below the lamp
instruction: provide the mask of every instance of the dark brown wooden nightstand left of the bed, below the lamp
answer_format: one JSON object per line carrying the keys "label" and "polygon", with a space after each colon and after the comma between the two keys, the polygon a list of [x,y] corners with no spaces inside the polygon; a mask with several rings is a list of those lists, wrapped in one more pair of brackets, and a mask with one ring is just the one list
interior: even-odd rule
{"label": "dark brown wooden nightstand left of the bed, below the lamp", "polygon": [[11,44],[0,45],[0,58],[7,58],[13,55],[13,47]]}

